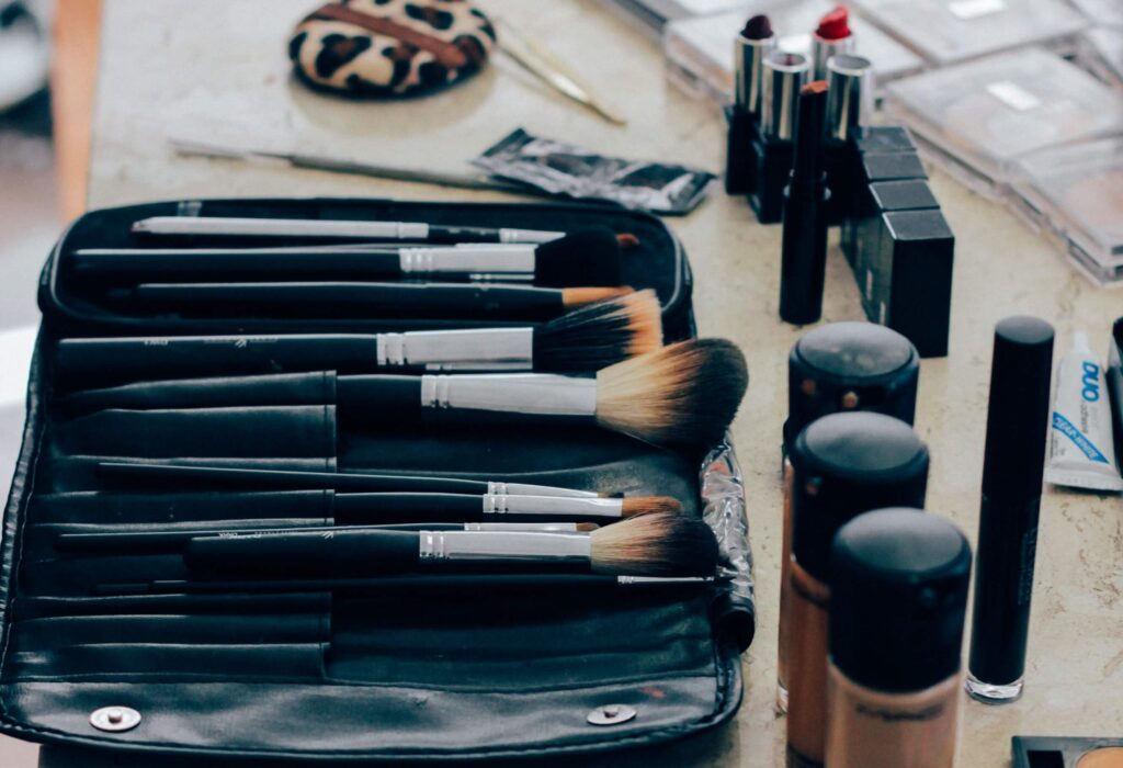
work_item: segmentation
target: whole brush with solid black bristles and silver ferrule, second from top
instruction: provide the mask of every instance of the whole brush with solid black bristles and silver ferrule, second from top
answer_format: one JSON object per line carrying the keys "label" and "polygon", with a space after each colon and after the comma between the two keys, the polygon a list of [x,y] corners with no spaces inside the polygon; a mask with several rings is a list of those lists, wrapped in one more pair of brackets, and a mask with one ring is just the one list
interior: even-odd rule
{"label": "whole brush with solid black bristles and silver ferrule, second from top", "polygon": [[[630,241],[630,240],[629,240]],[[533,282],[547,287],[620,285],[620,240],[606,227],[541,244],[437,247],[82,248],[80,276],[135,283],[201,281],[469,280]]]}

